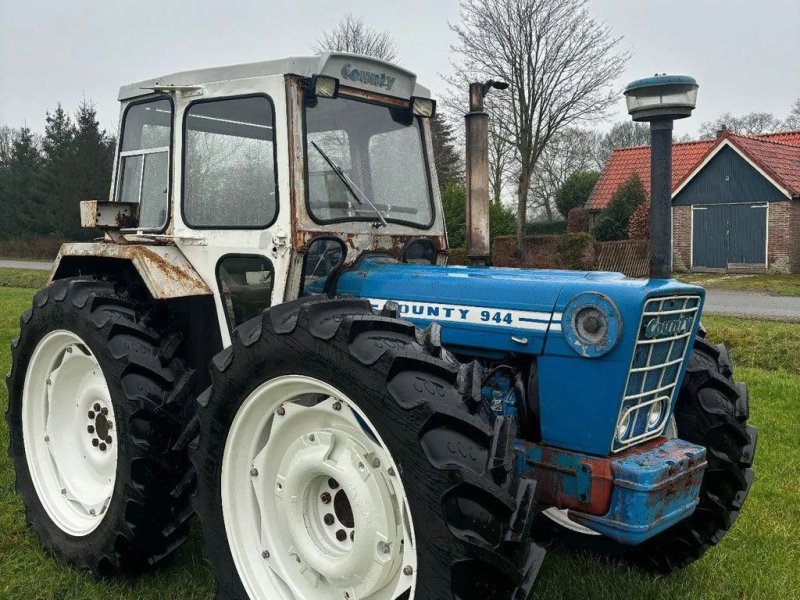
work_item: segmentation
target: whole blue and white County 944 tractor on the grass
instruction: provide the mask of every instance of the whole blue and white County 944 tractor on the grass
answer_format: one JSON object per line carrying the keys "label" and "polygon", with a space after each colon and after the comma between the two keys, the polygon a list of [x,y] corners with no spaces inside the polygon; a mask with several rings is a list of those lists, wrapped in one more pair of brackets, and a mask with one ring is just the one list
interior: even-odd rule
{"label": "whole blue and white County 944 tractor on the grass", "polygon": [[218,598],[523,600],[553,543],[669,572],[720,542],[756,430],[704,290],[486,266],[487,86],[471,266],[414,73],[326,53],[120,89],[109,200],[80,206],[102,237],[61,247],[12,344],[45,551],[137,573],[197,514]]}

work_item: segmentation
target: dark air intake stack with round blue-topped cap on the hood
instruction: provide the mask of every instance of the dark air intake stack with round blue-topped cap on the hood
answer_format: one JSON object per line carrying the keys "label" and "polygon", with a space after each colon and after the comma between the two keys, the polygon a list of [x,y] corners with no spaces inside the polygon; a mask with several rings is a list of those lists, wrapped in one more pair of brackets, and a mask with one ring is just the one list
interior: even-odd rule
{"label": "dark air intake stack with round blue-topped cap on the hood", "polygon": [[672,265],[672,122],[692,114],[697,82],[686,75],[656,75],[625,88],[628,114],[650,123],[650,277],[665,279]]}

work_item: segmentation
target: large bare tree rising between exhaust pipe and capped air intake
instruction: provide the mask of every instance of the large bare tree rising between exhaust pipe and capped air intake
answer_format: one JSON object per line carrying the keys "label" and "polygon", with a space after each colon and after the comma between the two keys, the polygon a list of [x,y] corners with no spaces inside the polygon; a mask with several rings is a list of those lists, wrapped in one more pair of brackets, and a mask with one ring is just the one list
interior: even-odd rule
{"label": "large bare tree rising between exhaust pipe and capped air intake", "polygon": [[604,114],[618,100],[610,87],[628,55],[589,16],[586,0],[462,0],[461,23],[451,28],[459,73],[511,86],[497,94],[493,116],[515,151],[521,248],[542,152],[556,133]]}

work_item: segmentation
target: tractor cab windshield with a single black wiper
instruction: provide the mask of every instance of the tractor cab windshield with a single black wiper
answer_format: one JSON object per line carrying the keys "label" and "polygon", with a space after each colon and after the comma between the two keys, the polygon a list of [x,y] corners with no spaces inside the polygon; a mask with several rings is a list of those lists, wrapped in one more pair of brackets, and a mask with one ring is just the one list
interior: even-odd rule
{"label": "tractor cab windshield with a single black wiper", "polygon": [[306,107],[311,215],[321,222],[383,217],[429,227],[433,209],[419,119],[408,109],[342,97],[313,102]]}

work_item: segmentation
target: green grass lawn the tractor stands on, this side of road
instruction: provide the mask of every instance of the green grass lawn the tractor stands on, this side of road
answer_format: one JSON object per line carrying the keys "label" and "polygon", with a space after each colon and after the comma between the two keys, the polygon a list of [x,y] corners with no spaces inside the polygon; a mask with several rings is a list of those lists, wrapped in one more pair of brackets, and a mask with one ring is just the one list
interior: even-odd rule
{"label": "green grass lawn the tractor stands on, this side of road", "polygon": [[[32,290],[0,288],[0,371]],[[732,344],[739,379],[750,386],[759,427],[756,483],[732,532],[690,567],[667,577],[589,555],[551,551],[534,598],[768,599],[800,598],[800,324],[704,319],[711,337]],[[0,408],[5,411],[5,386]],[[0,447],[8,432],[0,426]],[[0,599],[172,600],[213,597],[200,536],[157,572],[98,582],[41,552],[14,493],[14,473],[0,454]],[[488,599],[487,600],[491,600]]]}

